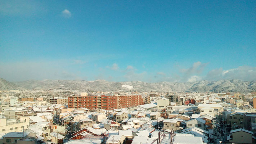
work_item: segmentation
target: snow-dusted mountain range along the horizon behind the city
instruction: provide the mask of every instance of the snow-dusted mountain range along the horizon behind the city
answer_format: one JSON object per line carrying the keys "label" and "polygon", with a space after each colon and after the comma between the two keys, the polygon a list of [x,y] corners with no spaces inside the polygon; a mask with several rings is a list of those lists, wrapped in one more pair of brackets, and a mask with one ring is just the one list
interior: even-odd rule
{"label": "snow-dusted mountain range along the horizon behind the city", "polygon": [[[125,86],[124,86],[125,85]],[[156,82],[142,81],[109,82],[106,80],[28,80],[22,82],[8,82],[0,78],[0,90],[39,90],[39,89],[62,89],[62,90],[91,90],[91,91],[230,91],[250,92],[256,91],[256,81],[219,80],[197,82]]]}

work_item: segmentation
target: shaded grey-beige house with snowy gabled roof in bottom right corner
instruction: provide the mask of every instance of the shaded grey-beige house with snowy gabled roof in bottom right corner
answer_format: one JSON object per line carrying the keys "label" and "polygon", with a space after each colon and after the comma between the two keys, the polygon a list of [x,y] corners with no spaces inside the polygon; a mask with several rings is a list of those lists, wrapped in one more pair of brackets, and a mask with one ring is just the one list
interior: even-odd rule
{"label": "shaded grey-beige house with snowy gabled roof in bottom right corner", "polygon": [[231,130],[228,140],[229,140],[229,143],[246,143],[246,144],[256,143],[256,138],[253,135],[253,132],[245,129]]}

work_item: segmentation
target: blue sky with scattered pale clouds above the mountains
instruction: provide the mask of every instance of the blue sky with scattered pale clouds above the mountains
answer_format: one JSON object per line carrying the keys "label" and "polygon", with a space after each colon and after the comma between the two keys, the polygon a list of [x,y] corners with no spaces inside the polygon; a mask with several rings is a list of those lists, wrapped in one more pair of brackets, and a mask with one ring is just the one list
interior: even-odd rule
{"label": "blue sky with scattered pale clouds above the mountains", "polygon": [[256,80],[255,0],[0,0],[8,81]]}

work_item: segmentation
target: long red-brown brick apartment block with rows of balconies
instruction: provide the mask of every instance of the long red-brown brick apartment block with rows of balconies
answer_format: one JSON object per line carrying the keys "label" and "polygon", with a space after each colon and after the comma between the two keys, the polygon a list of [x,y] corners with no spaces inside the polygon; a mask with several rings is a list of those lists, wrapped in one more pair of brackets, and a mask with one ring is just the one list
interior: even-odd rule
{"label": "long red-brown brick apartment block with rows of balconies", "polygon": [[68,108],[115,109],[144,104],[141,95],[69,96]]}

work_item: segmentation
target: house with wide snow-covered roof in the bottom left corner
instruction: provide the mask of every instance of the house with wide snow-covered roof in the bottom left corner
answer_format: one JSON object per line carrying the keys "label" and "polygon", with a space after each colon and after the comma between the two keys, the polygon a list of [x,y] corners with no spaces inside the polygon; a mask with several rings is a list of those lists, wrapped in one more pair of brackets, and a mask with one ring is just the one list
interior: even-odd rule
{"label": "house with wide snow-covered roof in the bottom left corner", "polygon": [[3,135],[2,137],[3,137],[3,144],[5,143],[15,144],[17,143],[18,139],[33,139],[37,141],[37,136],[33,132],[24,132],[24,134],[23,132],[9,132]]}

